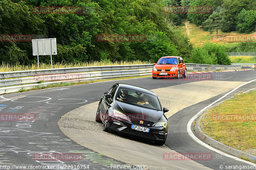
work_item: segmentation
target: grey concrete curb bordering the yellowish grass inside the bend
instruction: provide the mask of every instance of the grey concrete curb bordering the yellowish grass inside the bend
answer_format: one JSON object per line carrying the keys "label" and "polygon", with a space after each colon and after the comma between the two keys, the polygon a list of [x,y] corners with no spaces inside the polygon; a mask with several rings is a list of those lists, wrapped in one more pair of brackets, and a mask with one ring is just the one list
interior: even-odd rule
{"label": "grey concrete curb bordering the yellowish grass inside the bend", "polygon": [[[210,107],[210,108],[212,108],[212,107]],[[202,119],[203,115],[206,113],[206,111],[209,110],[210,108],[207,108],[204,111],[204,113],[200,117],[197,118],[196,126],[195,126],[196,135],[198,137],[200,137],[202,140],[204,140],[206,143],[208,143],[209,145],[212,145],[215,148],[220,149],[221,151],[227,152],[227,153],[229,153],[231,155],[234,155],[234,156],[237,156],[239,158],[241,158],[241,157],[246,158],[246,159],[252,161],[253,163],[256,163],[256,155],[252,155],[250,153],[247,153],[247,152],[244,152],[244,151],[240,151],[238,149],[235,149],[235,148],[232,148],[230,146],[227,146],[227,145],[225,145],[225,144],[223,144],[223,143],[221,143],[219,141],[216,141],[215,139],[209,137],[208,135],[206,135],[202,131],[202,129],[200,127],[201,119]]]}

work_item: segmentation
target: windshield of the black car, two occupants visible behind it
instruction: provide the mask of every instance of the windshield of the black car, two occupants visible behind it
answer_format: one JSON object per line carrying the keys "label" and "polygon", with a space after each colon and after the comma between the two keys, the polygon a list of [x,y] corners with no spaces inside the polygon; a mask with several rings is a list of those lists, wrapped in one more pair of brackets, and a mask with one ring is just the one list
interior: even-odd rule
{"label": "windshield of the black car, two occupants visible behind it", "polygon": [[117,92],[116,100],[139,107],[161,111],[161,106],[157,97],[143,92],[120,88]]}

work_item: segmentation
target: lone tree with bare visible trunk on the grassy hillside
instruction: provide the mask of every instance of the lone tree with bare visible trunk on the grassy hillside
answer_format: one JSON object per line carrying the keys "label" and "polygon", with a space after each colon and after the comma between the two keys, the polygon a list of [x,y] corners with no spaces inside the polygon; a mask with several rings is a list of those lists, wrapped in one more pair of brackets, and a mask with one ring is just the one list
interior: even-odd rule
{"label": "lone tree with bare visible trunk on the grassy hillside", "polygon": [[226,21],[220,12],[213,12],[209,18],[203,22],[203,26],[206,30],[208,30],[211,34],[216,31],[217,39],[218,39],[218,31],[226,25]]}

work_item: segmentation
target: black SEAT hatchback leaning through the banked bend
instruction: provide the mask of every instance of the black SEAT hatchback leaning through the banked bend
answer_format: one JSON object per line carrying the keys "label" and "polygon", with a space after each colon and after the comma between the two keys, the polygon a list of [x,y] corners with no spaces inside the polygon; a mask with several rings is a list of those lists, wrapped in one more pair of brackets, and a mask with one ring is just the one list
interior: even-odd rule
{"label": "black SEAT hatchback leaning through the banked bend", "polygon": [[169,123],[154,92],[133,85],[115,84],[100,99],[96,122],[104,131],[116,131],[165,143]]}

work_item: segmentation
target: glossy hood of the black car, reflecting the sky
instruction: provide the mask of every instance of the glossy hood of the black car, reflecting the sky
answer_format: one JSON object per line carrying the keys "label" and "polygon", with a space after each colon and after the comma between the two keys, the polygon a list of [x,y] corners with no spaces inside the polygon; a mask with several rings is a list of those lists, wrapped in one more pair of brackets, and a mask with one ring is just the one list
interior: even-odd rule
{"label": "glossy hood of the black car, reflecting the sky", "polygon": [[120,101],[114,101],[114,107],[113,109],[116,109],[117,111],[132,117],[133,119],[141,119],[141,120],[147,120],[151,122],[164,122],[167,121],[165,117],[163,116],[163,111],[156,111],[148,108],[143,108],[140,106],[135,106],[132,104],[120,102]]}

